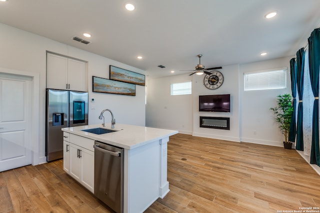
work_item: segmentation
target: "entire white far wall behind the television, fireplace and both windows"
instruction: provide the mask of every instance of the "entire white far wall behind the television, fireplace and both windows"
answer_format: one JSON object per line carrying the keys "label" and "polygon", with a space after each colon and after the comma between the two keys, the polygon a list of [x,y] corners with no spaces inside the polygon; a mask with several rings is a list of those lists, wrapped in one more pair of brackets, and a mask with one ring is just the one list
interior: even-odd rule
{"label": "entire white far wall behind the television, fireplace and both windows", "polygon": [[[146,126],[174,129],[200,137],[283,146],[282,135],[269,108],[275,106],[278,94],[291,93],[290,58],[224,66],[220,70],[224,82],[216,90],[204,87],[204,76],[192,75],[191,98],[190,95],[170,96],[170,83],[190,79],[187,74],[150,79],[146,87]],[[288,67],[286,89],[243,91],[243,72],[282,67]],[[210,94],[230,94],[231,112],[198,112],[198,96]],[[199,116],[229,117],[230,130],[200,128]],[[182,129],[182,123],[187,129]]]}

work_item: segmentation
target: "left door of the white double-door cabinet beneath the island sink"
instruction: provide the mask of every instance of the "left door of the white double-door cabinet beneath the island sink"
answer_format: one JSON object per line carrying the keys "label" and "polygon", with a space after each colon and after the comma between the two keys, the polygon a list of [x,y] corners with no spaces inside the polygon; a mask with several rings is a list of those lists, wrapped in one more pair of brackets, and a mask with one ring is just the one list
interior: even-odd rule
{"label": "left door of the white double-door cabinet beneath the island sink", "polygon": [[70,168],[69,175],[80,182],[81,177],[81,161],[79,158],[79,150],[81,148],[70,143]]}

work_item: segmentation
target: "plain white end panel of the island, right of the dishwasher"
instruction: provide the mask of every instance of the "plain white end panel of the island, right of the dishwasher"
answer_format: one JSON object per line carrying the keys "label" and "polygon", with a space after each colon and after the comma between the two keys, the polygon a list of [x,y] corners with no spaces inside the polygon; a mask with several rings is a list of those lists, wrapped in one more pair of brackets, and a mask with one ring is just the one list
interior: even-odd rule
{"label": "plain white end panel of the island, right of the dishwasher", "polygon": [[159,141],[124,150],[124,213],[143,212],[159,198]]}

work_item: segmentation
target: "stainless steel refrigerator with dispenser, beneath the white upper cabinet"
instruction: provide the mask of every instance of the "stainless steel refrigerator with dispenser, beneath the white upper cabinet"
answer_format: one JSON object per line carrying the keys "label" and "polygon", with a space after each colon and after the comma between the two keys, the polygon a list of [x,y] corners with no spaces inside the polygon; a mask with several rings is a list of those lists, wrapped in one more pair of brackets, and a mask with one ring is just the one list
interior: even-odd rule
{"label": "stainless steel refrigerator with dispenser, beneath the white upper cabinet", "polygon": [[45,155],[47,161],[63,158],[61,128],[88,124],[88,93],[46,89]]}

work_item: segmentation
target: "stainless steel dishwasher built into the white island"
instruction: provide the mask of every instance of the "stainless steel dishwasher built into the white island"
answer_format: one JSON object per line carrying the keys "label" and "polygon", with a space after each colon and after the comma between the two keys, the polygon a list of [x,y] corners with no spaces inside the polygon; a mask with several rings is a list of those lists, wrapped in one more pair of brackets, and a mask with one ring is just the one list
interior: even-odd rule
{"label": "stainless steel dishwasher built into the white island", "polygon": [[94,142],[94,195],[123,212],[123,148]]}

